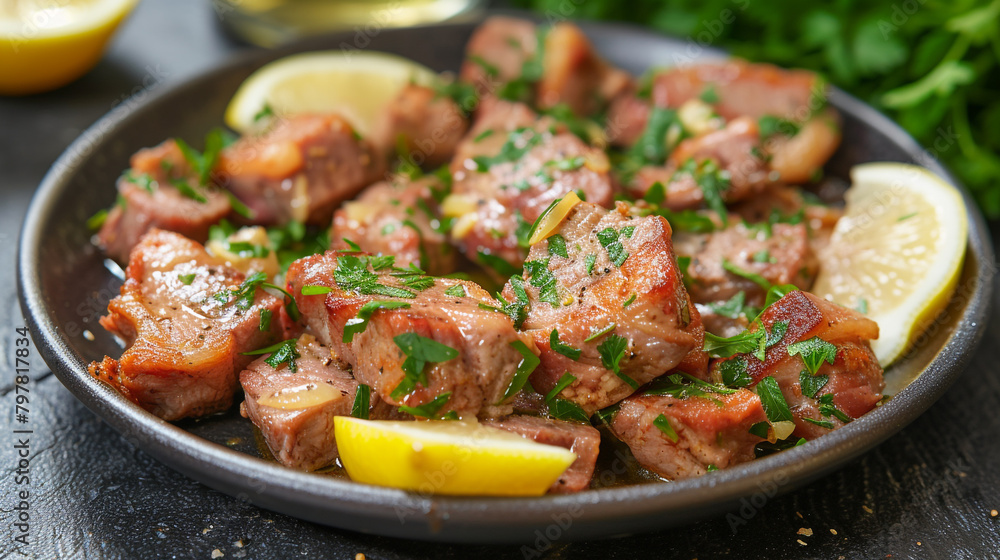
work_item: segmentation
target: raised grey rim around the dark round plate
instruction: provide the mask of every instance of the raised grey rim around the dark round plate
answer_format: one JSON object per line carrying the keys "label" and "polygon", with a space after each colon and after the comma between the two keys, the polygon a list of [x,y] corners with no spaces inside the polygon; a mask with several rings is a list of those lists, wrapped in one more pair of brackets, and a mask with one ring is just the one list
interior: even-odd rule
{"label": "raised grey rim around the dark round plate", "polygon": [[[508,11],[499,13],[510,14]],[[577,23],[585,31],[600,29],[641,34],[645,36],[643,40],[681,42],[627,24]],[[445,23],[402,30],[385,29],[382,33],[414,30],[429,33],[438,29],[457,32],[457,28],[471,29],[475,25],[477,21]],[[133,444],[186,476],[267,509],[325,525],[388,536],[449,542],[520,543],[533,539],[539,529],[560,528],[561,525],[554,525],[555,516],[567,512],[572,515],[579,509],[582,513],[572,516],[570,526],[559,530],[560,539],[634,533],[690,522],[696,517],[722,511],[741,498],[765,492],[763,483],[774,485],[776,493],[783,493],[840,468],[897,433],[937,401],[965,370],[971,351],[983,336],[995,270],[991,267],[994,259],[988,230],[975,202],[967,189],[937,159],[929,157],[899,125],[834,88],[831,104],[863,119],[914,159],[925,160],[921,161],[922,165],[944,176],[961,193],[969,220],[965,266],[969,267],[969,259],[974,259],[971,272],[975,274],[976,285],[956,320],[955,331],[912,382],[883,406],[808,446],[738,465],[712,476],[673,483],[603,488],[540,498],[419,497],[402,490],[294,471],[228,449],[156,418],[91,378],[85,364],[81,369],[81,364],[72,358],[71,345],[47,312],[45,294],[41,293],[40,259],[33,258],[44,243],[42,225],[57,200],[55,195],[62,194],[72,183],[80,163],[100,153],[100,147],[113,138],[124,123],[141,119],[148,106],[183,90],[204,87],[216,75],[246,65],[260,66],[286,54],[314,49],[319,44],[337,44],[338,38],[348,36],[350,33],[335,33],[298,41],[277,50],[241,53],[162,88],[136,103],[132,111],[116,113],[113,108],[66,148],[46,173],[25,215],[17,254],[18,295],[42,358],[78,400]],[[706,52],[710,56],[719,53]],[[247,493],[248,488],[256,493]],[[694,510],[699,511],[697,516],[691,515]],[[401,515],[406,518],[405,523]]]}

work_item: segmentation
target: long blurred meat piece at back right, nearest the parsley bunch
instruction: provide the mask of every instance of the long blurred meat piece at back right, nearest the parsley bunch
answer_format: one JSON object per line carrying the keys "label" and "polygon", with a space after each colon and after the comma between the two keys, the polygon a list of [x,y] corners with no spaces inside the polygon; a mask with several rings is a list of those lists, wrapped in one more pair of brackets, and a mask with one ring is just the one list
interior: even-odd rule
{"label": "long blurred meat piece at back right, nearest the parsley bunch", "polygon": [[802,122],[820,108],[826,93],[812,72],[728,60],[660,72],[653,79],[653,104],[675,109],[709,89],[718,97],[712,103],[716,112],[727,120],[773,115]]}

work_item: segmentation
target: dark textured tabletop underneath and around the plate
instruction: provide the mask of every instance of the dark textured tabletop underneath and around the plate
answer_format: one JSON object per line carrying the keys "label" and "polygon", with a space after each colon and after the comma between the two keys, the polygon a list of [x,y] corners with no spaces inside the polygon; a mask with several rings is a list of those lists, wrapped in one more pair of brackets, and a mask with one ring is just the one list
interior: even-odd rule
{"label": "dark textured tabletop underneath and around the plate", "polygon": [[[102,114],[127,110],[129,95],[183,80],[240,48],[222,37],[207,4],[146,0],[84,79],[50,94],[0,99],[0,558],[1000,558],[1000,516],[991,515],[1000,509],[997,321],[939,403],[849,467],[781,497],[762,489],[726,516],[597,542],[540,535],[524,546],[442,546],[258,509],[138,451],[48,374],[34,349],[30,422],[15,424],[14,329],[23,325],[15,241],[31,193],[73,138]],[[18,485],[12,431],[25,427],[34,432],[30,485]],[[28,546],[13,541],[16,493],[24,489]]]}

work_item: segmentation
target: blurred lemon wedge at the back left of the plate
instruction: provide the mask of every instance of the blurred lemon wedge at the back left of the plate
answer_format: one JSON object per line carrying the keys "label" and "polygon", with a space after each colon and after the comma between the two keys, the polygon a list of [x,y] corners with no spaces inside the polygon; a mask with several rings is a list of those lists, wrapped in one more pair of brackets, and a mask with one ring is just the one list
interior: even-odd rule
{"label": "blurred lemon wedge at the back left of the plate", "polygon": [[429,85],[435,78],[426,66],[386,53],[296,54],[251,74],[229,102],[226,124],[246,132],[268,109],[279,116],[339,113],[366,135],[406,84]]}

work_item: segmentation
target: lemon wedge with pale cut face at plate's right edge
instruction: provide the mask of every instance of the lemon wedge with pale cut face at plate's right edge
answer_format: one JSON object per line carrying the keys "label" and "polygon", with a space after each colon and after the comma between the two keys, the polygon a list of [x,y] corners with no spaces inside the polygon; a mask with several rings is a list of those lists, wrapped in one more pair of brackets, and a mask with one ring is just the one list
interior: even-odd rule
{"label": "lemon wedge with pale cut face at plate's right edge", "polygon": [[968,238],[965,202],[914,165],[859,165],[851,181],[812,291],[878,323],[872,350],[886,367],[955,291]]}

